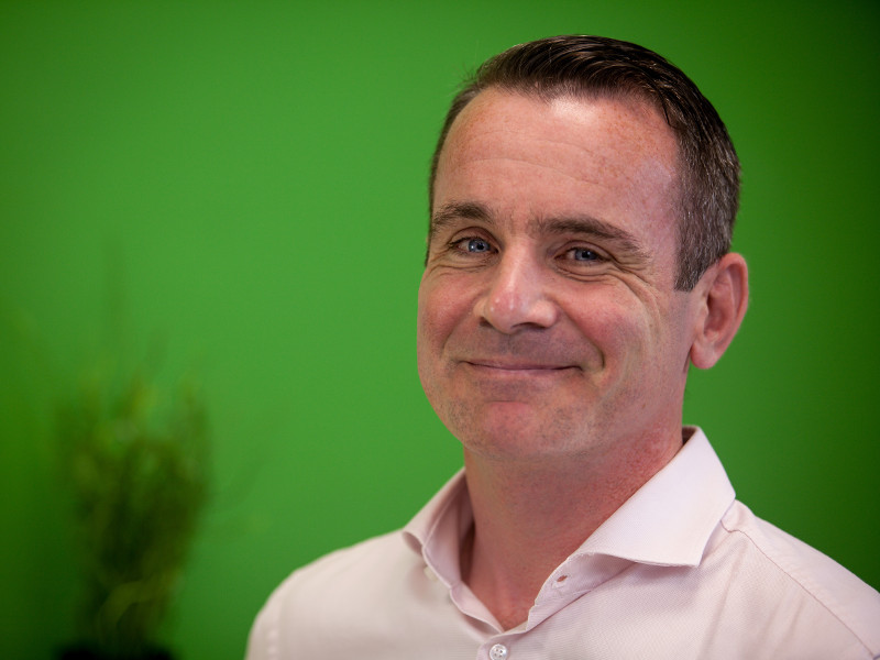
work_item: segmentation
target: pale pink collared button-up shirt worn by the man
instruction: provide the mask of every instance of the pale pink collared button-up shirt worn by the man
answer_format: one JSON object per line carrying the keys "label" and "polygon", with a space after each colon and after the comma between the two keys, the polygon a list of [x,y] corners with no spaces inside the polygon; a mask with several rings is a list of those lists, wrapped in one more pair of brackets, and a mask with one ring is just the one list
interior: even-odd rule
{"label": "pale pink collared button-up shirt worn by the man", "polygon": [[868,659],[880,594],[737,502],[700,429],[502,630],[461,580],[463,471],[406,526],[296,571],[249,660]]}

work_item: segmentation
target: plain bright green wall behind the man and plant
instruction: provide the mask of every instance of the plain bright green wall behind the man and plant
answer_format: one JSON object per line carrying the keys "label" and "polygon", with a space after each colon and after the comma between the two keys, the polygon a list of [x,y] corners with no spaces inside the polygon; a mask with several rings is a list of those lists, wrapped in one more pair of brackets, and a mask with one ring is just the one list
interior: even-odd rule
{"label": "plain bright green wall behind the man and plant", "polygon": [[462,75],[571,32],[657,50],[725,119],[752,300],[685,419],[757,514],[880,586],[877,2],[2,2],[0,657],[73,634],[51,410],[113,292],[128,359],[198,374],[211,413],[183,658],[242,657],[289,571],[457,470],[415,369],[429,156]]}

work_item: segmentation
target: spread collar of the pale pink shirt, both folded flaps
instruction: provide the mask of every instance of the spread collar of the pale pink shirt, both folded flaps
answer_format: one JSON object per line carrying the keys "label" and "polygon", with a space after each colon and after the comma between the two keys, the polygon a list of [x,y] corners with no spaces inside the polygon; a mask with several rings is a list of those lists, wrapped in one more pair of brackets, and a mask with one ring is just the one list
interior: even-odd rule
{"label": "spread collar of the pale pink shirt, both folded flaps", "polygon": [[[696,427],[684,446],[603,522],[568,561],[596,554],[657,565],[697,565],[735,493],[717,454]],[[461,582],[459,549],[473,522],[464,471],[404,529],[414,551],[451,586]]]}

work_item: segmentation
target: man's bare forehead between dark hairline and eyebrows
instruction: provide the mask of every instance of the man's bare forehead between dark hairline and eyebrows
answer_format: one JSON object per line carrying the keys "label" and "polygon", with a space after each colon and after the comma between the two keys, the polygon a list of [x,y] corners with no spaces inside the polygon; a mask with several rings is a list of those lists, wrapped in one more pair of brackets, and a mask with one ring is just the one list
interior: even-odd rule
{"label": "man's bare forehead between dark hairline and eyebrows", "polygon": [[543,100],[488,89],[455,119],[432,206],[477,202],[505,217],[590,215],[659,226],[675,216],[678,145],[631,100]]}

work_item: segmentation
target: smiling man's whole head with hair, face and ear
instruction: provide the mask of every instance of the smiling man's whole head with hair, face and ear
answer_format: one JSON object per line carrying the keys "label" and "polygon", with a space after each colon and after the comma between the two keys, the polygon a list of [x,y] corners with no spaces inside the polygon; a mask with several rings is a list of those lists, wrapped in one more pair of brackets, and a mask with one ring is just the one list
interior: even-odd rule
{"label": "smiling man's whole head with hair, face and ear", "polygon": [[[438,147],[419,288],[421,383],[465,458],[573,465],[604,455],[626,472],[652,455],[656,465],[681,442],[689,365],[711,366],[745,312],[745,262],[727,252],[736,158],[708,103],[658,56],[593,37],[519,48],[481,69]],[[629,51],[638,57],[620,55]],[[535,73],[549,63],[562,73]],[[572,73],[591,67],[592,77]],[[703,197],[727,201],[712,220],[698,212],[710,202],[690,194],[692,179],[712,177],[682,163],[710,158],[714,147],[694,133],[713,122],[676,128],[684,107],[714,118],[732,163],[726,184]],[[700,217],[700,229],[683,216]],[[710,230],[717,244],[700,238],[700,250],[682,254],[683,240]]]}

